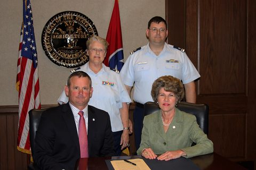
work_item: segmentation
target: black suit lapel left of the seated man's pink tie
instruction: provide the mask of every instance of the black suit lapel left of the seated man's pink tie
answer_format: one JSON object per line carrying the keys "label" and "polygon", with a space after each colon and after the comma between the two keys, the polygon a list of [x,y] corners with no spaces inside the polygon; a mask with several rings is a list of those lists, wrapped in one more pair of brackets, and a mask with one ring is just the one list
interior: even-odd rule
{"label": "black suit lapel left of the seated man's pink tie", "polygon": [[[61,115],[67,124],[68,132],[70,133],[70,136],[73,139],[75,146],[80,148],[75,118],[74,118],[73,112],[69,106],[69,103],[63,105],[62,112],[63,112],[63,114],[61,114]],[[80,149],[78,149],[78,150],[80,150]]]}

